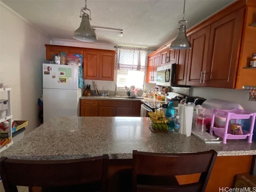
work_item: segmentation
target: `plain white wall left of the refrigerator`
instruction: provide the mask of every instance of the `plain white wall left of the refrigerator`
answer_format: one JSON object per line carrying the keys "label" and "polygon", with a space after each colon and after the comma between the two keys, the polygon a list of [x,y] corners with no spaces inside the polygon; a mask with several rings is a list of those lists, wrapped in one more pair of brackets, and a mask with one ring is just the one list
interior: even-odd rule
{"label": "plain white wall left of the refrigerator", "polygon": [[12,87],[14,120],[28,120],[25,134],[38,127],[44,44],[47,36],[0,2],[0,82]]}

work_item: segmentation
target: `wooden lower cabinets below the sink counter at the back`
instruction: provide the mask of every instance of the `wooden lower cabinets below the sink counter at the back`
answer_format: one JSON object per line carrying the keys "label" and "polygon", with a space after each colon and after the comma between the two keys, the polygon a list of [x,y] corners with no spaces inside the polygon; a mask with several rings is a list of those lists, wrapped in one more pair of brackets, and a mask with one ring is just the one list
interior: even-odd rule
{"label": "wooden lower cabinets below the sink counter at the back", "polygon": [[80,116],[140,116],[140,101],[81,100]]}

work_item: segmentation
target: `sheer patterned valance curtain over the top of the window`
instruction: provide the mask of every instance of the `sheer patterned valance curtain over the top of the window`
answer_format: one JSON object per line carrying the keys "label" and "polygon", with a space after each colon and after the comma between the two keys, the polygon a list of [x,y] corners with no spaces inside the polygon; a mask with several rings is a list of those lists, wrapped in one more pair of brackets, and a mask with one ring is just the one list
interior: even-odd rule
{"label": "sheer patterned valance curtain over the top of the window", "polygon": [[118,70],[147,70],[148,48],[116,46],[115,69]]}

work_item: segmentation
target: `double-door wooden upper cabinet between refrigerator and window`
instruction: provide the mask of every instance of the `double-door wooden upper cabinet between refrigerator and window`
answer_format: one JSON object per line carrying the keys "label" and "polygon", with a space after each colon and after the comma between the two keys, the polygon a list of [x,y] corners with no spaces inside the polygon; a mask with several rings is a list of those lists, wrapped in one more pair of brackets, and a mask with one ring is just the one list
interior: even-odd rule
{"label": "double-door wooden upper cabinet between refrigerator and window", "polygon": [[114,52],[84,51],[84,79],[114,80]]}

